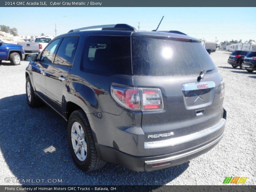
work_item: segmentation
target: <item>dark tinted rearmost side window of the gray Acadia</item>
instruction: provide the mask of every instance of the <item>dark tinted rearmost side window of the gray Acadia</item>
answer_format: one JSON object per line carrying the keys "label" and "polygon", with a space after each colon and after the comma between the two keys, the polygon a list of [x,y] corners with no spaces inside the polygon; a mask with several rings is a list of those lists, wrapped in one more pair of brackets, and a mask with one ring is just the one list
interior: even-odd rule
{"label": "dark tinted rearmost side window of the gray Acadia", "polygon": [[84,68],[111,74],[132,74],[130,36],[88,36]]}

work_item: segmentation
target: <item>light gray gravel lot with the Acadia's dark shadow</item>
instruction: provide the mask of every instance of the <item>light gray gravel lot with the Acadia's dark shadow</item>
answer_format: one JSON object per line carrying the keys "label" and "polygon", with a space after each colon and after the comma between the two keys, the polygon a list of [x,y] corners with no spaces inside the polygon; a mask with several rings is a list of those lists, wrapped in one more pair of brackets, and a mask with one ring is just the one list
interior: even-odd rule
{"label": "light gray gravel lot with the Acadia's dark shadow", "polygon": [[[5,178],[61,179],[65,185],[222,185],[225,177],[248,177],[255,185],[256,71],[234,69],[229,53],[211,54],[226,83],[225,135],[208,153],[188,163],[153,172],[133,172],[115,164],[84,173],[68,151],[66,122],[49,107],[29,108],[25,96],[25,68],[0,64],[0,185]],[[39,180],[37,180],[39,181]],[[31,183],[30,183],[31,184]],[[33,183],[54,184],[54,183]]]}

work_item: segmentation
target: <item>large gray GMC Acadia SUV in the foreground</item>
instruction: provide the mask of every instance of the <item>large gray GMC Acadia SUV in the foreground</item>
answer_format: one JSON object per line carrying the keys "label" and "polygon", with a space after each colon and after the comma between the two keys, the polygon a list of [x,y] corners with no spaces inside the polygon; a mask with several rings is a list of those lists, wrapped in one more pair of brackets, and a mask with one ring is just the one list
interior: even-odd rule
{"label": "large gray GMC Acadia SUV in the foreground", "polygon": [[[83,31],[93,28],[102,30]],[[225,84],[196,38],[92,26],[56,37],[28,60],[28,105],[44,101],[68,121],[70,153],[83,171],[105,162],[162,169],[223,136]]]}

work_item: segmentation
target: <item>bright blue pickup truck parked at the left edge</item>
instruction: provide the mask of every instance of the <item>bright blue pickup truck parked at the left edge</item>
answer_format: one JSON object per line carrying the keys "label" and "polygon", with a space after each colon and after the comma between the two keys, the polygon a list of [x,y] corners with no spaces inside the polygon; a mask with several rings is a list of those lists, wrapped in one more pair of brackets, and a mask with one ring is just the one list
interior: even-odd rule
{"label": "bright blue pickup truck parked at the left edge", "polygon": [[12,65],[19,65],[20,60],[24,58],[25,52],[21,45],[8,44],[0,40],[0,63],[2,60],[9,60]]}

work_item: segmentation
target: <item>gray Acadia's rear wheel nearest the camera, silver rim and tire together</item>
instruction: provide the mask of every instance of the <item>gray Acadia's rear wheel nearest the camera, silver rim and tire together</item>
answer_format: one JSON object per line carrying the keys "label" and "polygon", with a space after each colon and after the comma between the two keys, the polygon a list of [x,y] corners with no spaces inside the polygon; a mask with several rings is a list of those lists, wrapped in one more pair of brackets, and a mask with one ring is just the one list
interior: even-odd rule
{"label": "gray Acadia's rear wheel nearest the camera, silver rim and tire together", "polygon": [[99,158],[92,137],[92,129],[83,110],[71,113],[68,119],[68,146],[75,164],[84,172],[105,166]]}

